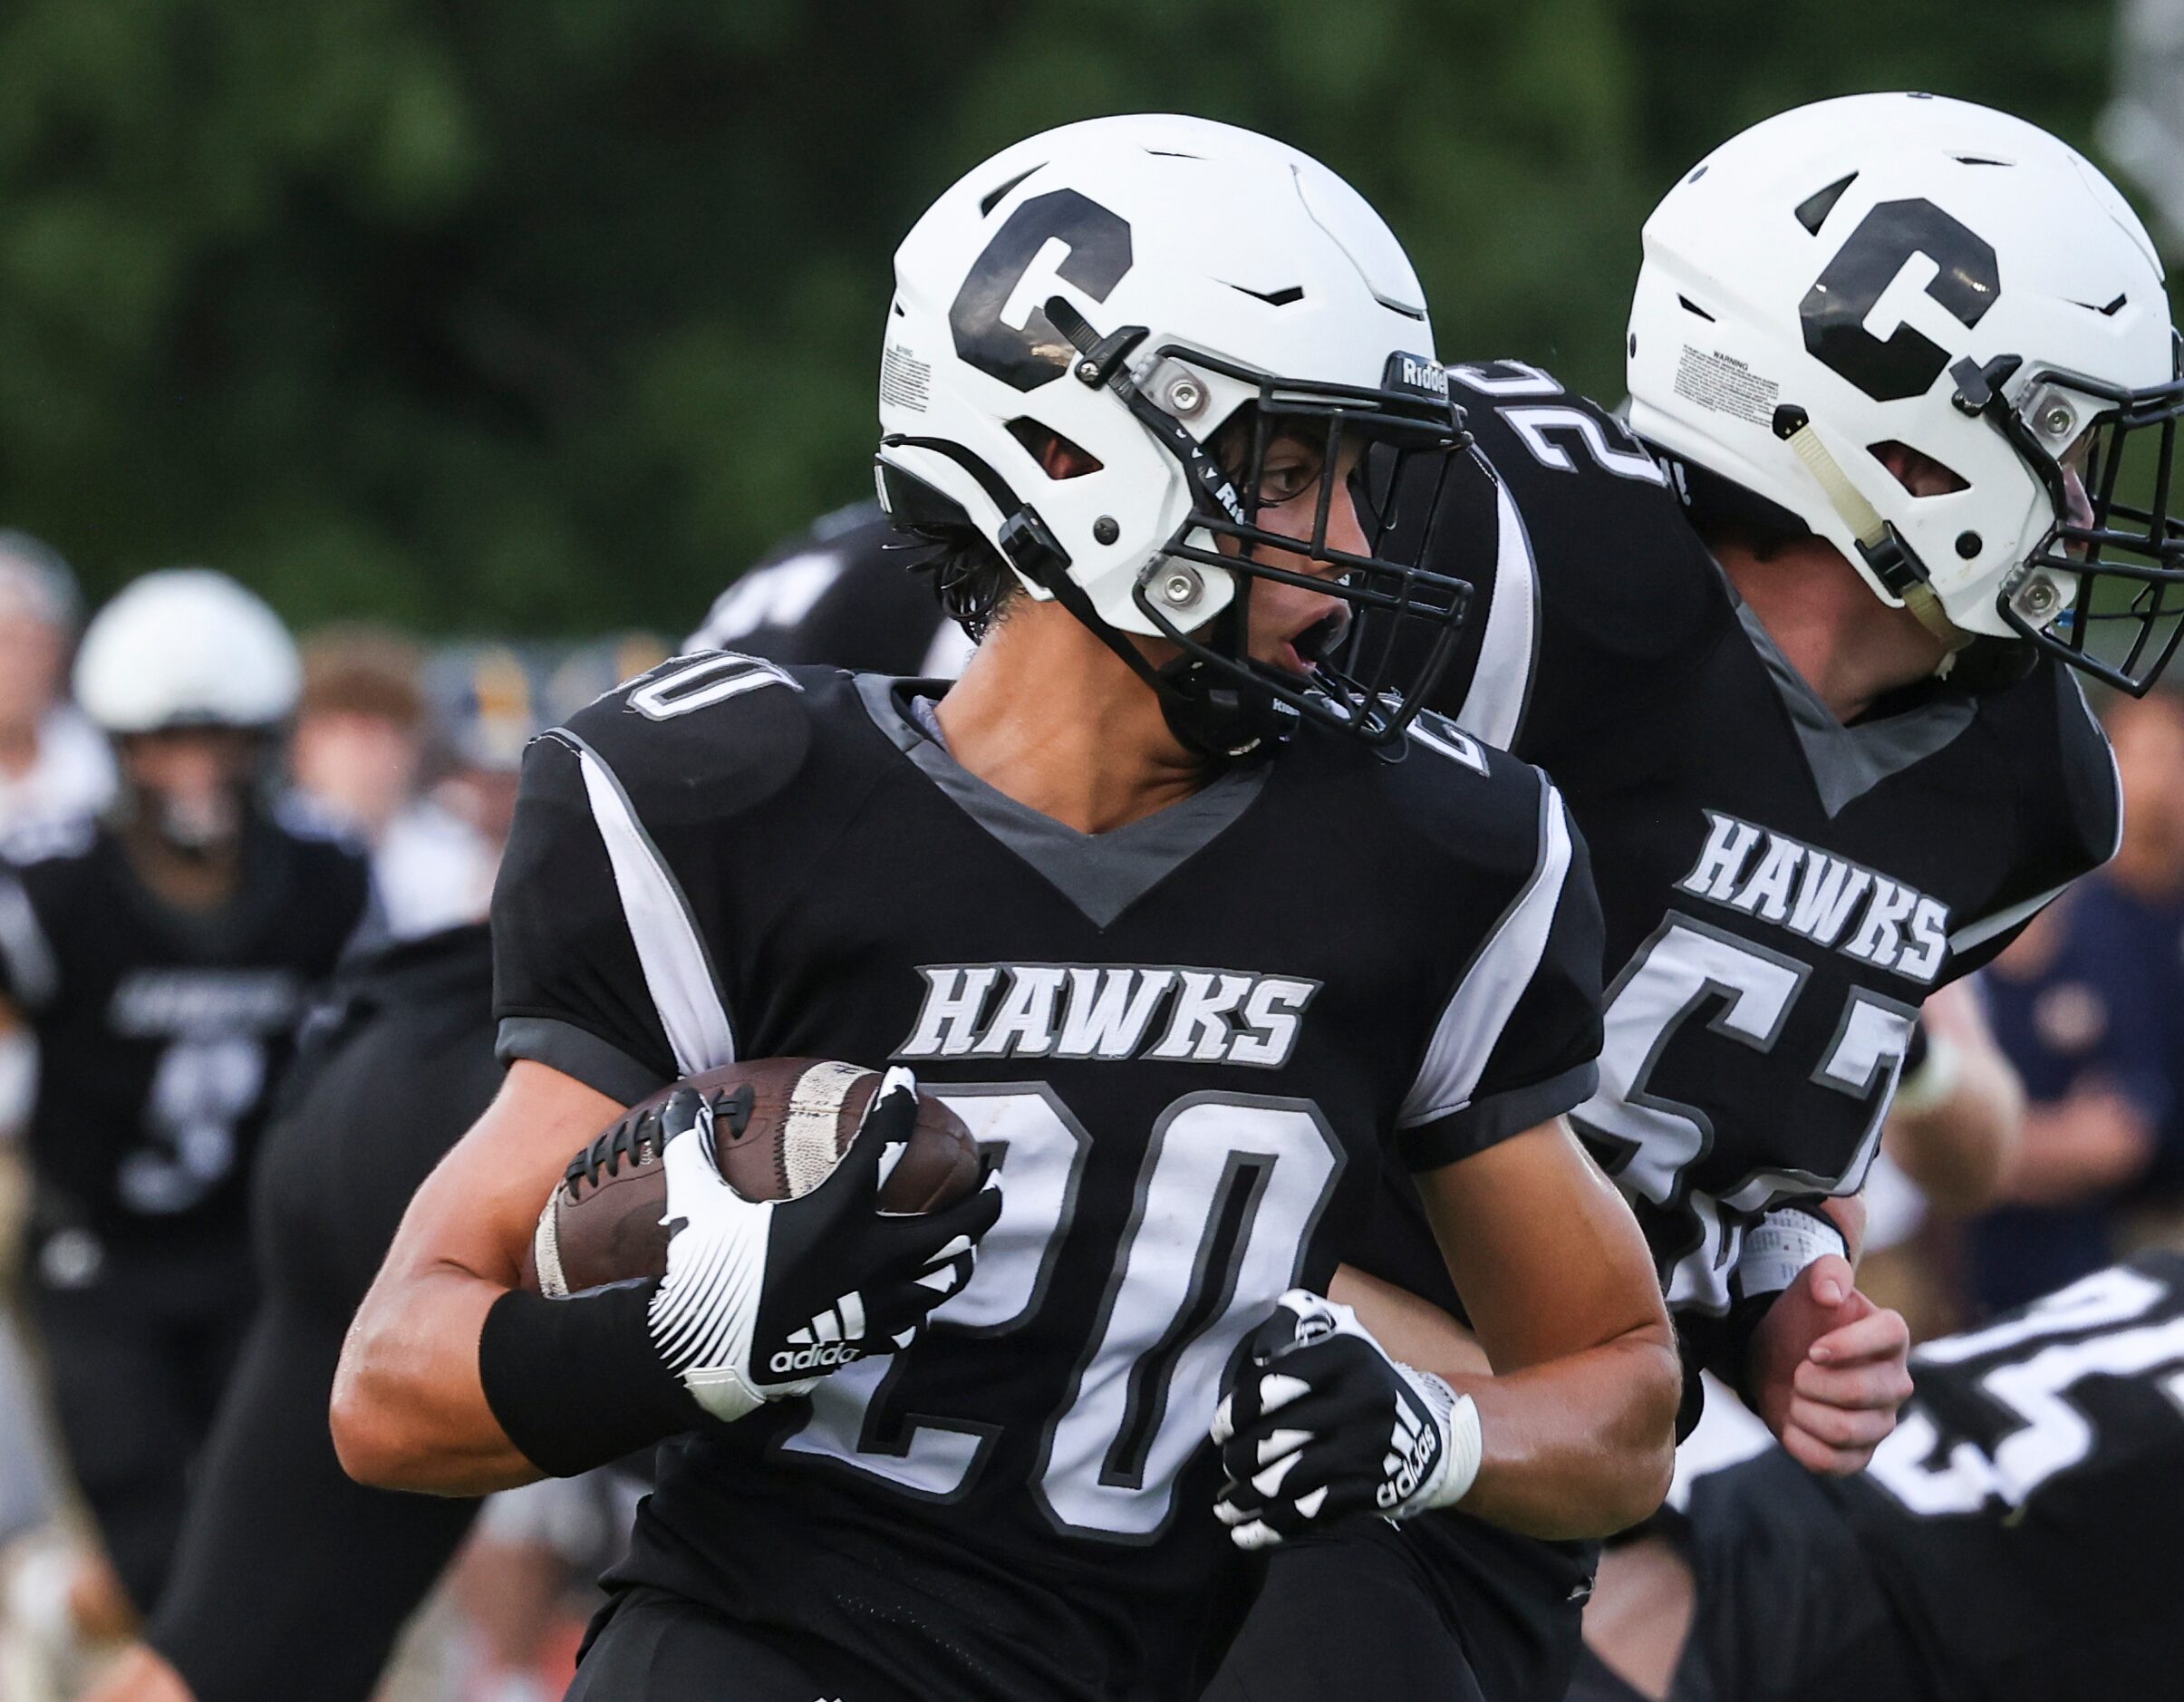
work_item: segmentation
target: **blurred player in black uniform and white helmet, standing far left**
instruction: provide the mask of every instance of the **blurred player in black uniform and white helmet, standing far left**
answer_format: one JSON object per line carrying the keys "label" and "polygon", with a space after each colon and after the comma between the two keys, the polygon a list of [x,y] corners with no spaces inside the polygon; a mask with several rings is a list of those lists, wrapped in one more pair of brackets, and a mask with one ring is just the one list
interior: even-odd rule
{"label": "blurred player in black uniform and white helmet, standing far left", "polygon": [[31,1311],[114,1567],[72,1586],[87,1632],[159,1597],[251,1313],[245,1178],[266,1095],[367,909],[363,859],[266,797],[295,695],[288,634],[232,579],[135,581],[76,658],[120,791],[98,822],[17,846],[0,878],[0,1003],[41,1053]]}

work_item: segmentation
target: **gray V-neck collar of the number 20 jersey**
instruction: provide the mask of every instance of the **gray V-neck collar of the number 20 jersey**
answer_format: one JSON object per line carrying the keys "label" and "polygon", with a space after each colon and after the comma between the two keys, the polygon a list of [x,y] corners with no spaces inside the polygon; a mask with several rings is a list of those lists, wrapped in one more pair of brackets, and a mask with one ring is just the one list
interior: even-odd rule
{"label": "gray V-neck collar of the number 20 jersey", "polygon": [[1206,850],[1251,806],[1271,763],[1232,767],[1179,804],[1112,832],[1077,828],[1020,804],[974,776],[917,723],[898,690],[922,682],[858,675],[856,690],[880,732],[985,832],[1029,863],[1096,929],[1109,926],[1144,894]]}

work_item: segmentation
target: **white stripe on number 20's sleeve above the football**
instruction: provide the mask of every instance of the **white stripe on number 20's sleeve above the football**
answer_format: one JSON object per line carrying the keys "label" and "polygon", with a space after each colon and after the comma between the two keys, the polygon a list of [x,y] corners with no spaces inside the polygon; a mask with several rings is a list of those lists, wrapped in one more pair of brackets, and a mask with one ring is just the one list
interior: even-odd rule
{"label": "white stripe on number 20's sleeve above the football", "polygon": [[660,1012],[668,1047],[675,1049],[675,1066],[684,1075],[697,1075],[734,1064],[736,1031],[727,1020],[721,983],[714,979],[681,885],[638,822],[629,793],[607,760],[566,728],[555,736],[566,738],[577,752],[592,822],[598,824],[598,837],[607,846],[614,889],[622,898],[629,939],[644,970],[644,990]]}

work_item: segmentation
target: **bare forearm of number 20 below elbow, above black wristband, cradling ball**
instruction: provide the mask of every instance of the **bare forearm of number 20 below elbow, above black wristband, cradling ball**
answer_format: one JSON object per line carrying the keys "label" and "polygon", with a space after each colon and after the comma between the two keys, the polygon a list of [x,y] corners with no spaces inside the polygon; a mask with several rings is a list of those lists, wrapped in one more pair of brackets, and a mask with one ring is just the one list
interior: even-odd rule
{"label": "bare forearm of number 20 below elbow, above black wristband, cradling ball", "polygon": [[542,1477],[478,1381],[478,1335],[500,1293],[452,1267],[380,1272],[334,1374],[334,1451],[349,1477],[428,1494],[489,1494]]}

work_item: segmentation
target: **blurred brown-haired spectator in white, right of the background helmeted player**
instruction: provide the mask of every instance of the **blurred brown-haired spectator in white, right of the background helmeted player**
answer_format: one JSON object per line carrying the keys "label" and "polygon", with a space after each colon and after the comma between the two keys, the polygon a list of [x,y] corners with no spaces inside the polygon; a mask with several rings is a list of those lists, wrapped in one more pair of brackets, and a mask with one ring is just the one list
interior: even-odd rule
{"label": "blurred brown-haired spectator in white, right of the background helmeted player", "polygon": [[304,645],[290,769],[297,789],[371,846],[395,939],[454,926],[485,907],[498,850],[419,793],[432,756],[424,651],[384,627],[325,627]]}

